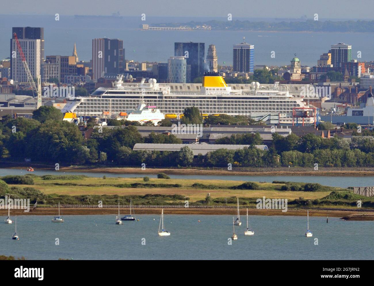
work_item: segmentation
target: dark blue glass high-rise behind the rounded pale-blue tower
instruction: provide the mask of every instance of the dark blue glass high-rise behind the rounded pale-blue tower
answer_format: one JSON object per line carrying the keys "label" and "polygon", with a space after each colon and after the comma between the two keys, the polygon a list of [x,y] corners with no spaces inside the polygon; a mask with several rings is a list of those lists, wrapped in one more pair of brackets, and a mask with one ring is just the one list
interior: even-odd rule
{"label": "dark blue glass high-rise behind the rounded pale-blue tower", "polygon": [[205,43],[174,43],[174,56],[184,56],[186,58],[187,65],[191,66],[191,81],[204,74],[206,70]]}

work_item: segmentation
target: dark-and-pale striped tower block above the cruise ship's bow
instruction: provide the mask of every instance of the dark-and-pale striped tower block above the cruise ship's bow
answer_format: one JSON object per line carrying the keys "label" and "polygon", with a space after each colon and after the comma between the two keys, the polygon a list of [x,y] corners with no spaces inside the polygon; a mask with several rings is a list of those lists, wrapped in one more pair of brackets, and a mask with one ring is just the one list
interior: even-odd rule
{"label": "dark-and-pale striped tower block above the cruise ship's bow", "polygon": [[119,39],[92,40],[92,74],[99,79],[103,73],[123,73],[125,49]]}

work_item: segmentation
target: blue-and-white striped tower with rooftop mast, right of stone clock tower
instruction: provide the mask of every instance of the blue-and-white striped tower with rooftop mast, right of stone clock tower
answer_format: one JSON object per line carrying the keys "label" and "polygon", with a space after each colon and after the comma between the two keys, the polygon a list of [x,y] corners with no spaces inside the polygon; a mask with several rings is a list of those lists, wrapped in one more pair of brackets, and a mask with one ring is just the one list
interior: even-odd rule
{"label": "blue-and-white striped tower with rooftop mast, right of stone clock tower", "polygon": [[233,71],[238,73],[253,73],[254,45],[245,42],[233,46]]}

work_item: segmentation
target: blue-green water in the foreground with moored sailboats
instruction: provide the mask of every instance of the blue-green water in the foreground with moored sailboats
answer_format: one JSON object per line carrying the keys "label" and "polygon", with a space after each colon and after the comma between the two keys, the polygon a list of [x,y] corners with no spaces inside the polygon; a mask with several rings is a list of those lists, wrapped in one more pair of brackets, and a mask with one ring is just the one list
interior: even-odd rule
{"label": "blue-green water in the foreground with moored sailboats", "polygon": [[[12,240],[14,223],[0,224],[0,254],[27,259],[373,259],[373,221],[341,221],[310,217],[313,237],[304,236],[306,216],[250,216],[254,236],[232,216],[165,215],[169,237],[159,237],[159,215],[116,225],[115,215],[17,217],[20,239]],[[201,222],[198,222],[200,220]],[[56,238],[59,245],[55,245]],[[145,245],[142,245],[145,239]],[[318,239],[318,245],[315,245]],[[144,240],[143,240],[144,241]],[[363,243],[364,242],[364,243]]]}

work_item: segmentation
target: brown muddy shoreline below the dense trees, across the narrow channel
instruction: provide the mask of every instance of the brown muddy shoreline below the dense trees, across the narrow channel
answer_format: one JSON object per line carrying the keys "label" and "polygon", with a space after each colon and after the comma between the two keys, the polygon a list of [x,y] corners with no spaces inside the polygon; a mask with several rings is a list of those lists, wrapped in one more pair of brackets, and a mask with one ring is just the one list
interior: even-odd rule
{"label": "brown muddy shoreline below the dense trees, across the narrow channel", "polygon": [[[55,171],[55,166],[46,164],[26,164],[26,163],[4,163],[0,162],[3,169],[23,169],[29,165],[35,166],[36,170]],[[292,170],[289,170],[292,169]],[[142,170],[141,167],[103,167],[103,166],[61,166],[57,172],[85,172],[85,173],[111,173],[111,174],[139,174],[157,175],[166,173],[168,175],[225,175],[225,176],[374,176],[373,168],[370,167],[321,167],[313,170],[312,167],[278,167],[278,168],[243,168],[243,169],[199,169],[199,168],[151,168]]]}

